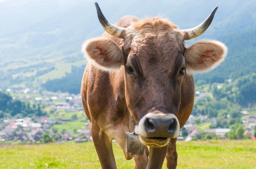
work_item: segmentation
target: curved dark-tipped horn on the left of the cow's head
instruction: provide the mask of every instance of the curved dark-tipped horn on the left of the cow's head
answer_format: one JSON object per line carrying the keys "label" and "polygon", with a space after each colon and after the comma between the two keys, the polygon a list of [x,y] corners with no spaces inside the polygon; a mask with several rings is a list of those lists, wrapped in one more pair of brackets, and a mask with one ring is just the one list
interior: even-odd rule
{"label": "curved dark-tipped horn on the left of the cow's head", "polygon": [[109,34],[124,39],[125,38],[125,29],[118,26],[113,25],[112,23],[108,22],[105,16],[102,14],[101,9],[99,8],[98,3],[95,2],[99,22],[101,23],[102,27],[105,29],[106,32]]}

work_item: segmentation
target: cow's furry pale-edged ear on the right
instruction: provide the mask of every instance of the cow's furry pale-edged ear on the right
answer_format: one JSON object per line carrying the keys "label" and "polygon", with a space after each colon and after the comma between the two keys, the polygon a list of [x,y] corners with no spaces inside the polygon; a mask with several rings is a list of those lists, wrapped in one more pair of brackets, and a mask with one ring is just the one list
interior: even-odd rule
{"label": "cow's furry pale-edged ear on the right", "polygon": [[226,57],[227,46],[215,40],[199,40],[186,49],[187,70],[204,72],[216,68]]}

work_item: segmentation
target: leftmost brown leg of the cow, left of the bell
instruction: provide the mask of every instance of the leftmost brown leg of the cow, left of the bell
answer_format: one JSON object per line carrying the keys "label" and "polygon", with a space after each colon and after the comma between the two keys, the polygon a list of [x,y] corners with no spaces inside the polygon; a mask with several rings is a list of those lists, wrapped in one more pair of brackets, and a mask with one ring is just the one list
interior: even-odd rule
{"label": "leftmost brown leg of the cow, left of the bell", "polygon": [[112,149],[112,139],[100,131],[97,124],[91,124],[93,144],[99,156],[102,169],[116,169],[116,161]]}

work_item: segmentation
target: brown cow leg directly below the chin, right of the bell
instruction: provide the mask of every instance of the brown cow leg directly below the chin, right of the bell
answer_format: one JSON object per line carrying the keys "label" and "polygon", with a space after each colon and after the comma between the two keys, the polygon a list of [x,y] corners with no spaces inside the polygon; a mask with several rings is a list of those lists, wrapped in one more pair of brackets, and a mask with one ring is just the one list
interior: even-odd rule
{"label": "brown cow leg directly below the chin, right of the bell", "polygon": [[168,146],[160,148],[150,146],[147,169],[162,169],[167,149]]}

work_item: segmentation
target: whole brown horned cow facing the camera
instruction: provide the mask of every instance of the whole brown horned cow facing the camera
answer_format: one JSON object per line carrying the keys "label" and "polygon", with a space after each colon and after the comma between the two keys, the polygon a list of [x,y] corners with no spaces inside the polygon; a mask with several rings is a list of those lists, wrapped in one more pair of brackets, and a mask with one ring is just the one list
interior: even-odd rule
{"label": "whole brown horned cow facing the camera", "polygon": [[106,32],[82,46],[89,61],[81,96],[101,166],[116,169],[112,139],[127,160],[133,158],[125,132],[135,131],[144,147],[135,158],[136,168],[160,169],[166,158],[167,167],[174,169],[176,138],[194,104],[192,72],[215,68],[227,54],[218,41],[200,40],[186,48],[184,40],[204,33],[217,7],[197,27],[180,30],[160,17],[125,16],[112,25],[95,5]]}

